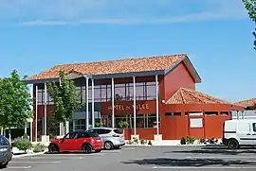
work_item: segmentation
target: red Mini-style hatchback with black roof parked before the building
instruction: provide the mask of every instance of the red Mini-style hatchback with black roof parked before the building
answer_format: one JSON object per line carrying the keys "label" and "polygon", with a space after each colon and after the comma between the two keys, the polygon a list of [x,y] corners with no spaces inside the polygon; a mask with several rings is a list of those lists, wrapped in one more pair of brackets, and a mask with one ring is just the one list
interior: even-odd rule
{"label": "red Mini-style hatchback with black roof parked before the building", "polygon": [[62,139],[54,139],[48,145],[50,153],[64,151],[82,151],[84,153],[101,152],[103,143],[95,132],[74,131],[65,134]]}

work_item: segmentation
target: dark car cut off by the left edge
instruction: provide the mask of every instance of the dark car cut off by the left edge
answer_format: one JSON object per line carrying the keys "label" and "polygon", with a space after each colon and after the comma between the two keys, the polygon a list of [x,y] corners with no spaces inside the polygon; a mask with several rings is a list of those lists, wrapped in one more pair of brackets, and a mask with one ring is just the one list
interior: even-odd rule
{"label": "dark car cut off by the left edge", "polygon": [[12,149],[6,137],[0,135],[0,168],[8,166],[12,159]]}

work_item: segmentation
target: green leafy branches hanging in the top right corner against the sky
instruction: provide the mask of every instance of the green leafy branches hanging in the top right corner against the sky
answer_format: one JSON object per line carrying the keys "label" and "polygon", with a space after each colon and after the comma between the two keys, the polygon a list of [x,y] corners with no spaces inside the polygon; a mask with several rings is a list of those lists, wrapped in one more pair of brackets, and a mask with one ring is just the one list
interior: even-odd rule
{"label": "green leafy branches hanging in the top right corner against the sky", "polygon": [[255,31],[252,34],[255,37],[254,49],[256,50],[256,0],[243,0],[243,2],[245,4],[245,8],[248,11],[250,19],[255,24]]}

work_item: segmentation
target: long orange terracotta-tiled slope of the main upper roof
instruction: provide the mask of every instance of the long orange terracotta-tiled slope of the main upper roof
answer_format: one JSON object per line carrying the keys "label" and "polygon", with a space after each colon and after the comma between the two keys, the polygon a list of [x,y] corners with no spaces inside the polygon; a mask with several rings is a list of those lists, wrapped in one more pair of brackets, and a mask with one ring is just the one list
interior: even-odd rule
{"label": "long orange terracotta-tiled slope of the main upper roof", "polygon": [[108,60],[98,62],[85,62],[77,64],[57,65],[35,76],[28,77],[27,80],[46,79],[59,77],[59,71],[63,70],[66,74],[75,72],[83,75],[107,75],[131,72],[146,72],[167,70],[183,58],[186,54],[146,57],[139,59]]}

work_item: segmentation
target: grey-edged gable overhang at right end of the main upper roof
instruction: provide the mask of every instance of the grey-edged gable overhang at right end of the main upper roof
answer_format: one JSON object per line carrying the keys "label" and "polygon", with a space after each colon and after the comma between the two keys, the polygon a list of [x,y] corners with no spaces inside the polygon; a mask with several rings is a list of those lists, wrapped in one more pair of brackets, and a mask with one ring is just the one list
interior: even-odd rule
{"label": "grey-edged gable overhang at right end of the main upper roof", "polygon": [[188,71],[190,72],[190,74],[192,75],[195,83],[201,83],[202,80],[201,80],[201,77],[199,77],[197,71],[195,70],[195,68],[193,67],[192,65],[192,61],[186,56],[186,57],[183,57],[181,60],[178,60],[176,63],[174,63],[174,65],[165,71],[165,75],[169,74],[170,72],[172,72],[180,62],[184,62],[184,64],[186,65]]}

